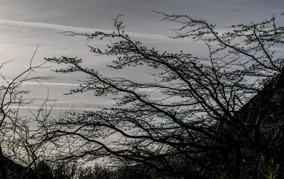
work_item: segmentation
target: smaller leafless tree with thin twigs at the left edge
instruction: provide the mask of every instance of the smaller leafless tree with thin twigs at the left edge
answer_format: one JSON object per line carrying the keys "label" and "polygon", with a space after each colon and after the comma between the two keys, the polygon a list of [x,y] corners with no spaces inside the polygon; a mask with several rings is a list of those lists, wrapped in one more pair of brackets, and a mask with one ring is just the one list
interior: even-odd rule
{"label": "smaller leafless tree with thin twigs at the left edge", "polygon": [[[35,70],[45,68],[45,63],[33,65],[35,53],[27,69],[19,72],[13,79],[6,79],[2,73],[0,74],[2,80],[0,85],[0,169],[2,178],[23,177],[31,165],[35,164],[38,157],[43,154],[43,148],[40,148],[40,145],[33,145],[36,130],[31,129],[31,125],[36,126],[36,119],[31,119],[20,112],[21,107],[28,107],[33,102],[33,99],[25,99],[29,91],[21,86],[27,81],[39,82],[39,80],[50,79],[47,76],[35,75]],[[0,69],[3,69],[6,63],[2,63]],[[45,109],[46,102],[48,99],[43,102],[40,109]],[[10,160],[18,164],[9,166]],[[14,174],[13,171],[15,171]]]}

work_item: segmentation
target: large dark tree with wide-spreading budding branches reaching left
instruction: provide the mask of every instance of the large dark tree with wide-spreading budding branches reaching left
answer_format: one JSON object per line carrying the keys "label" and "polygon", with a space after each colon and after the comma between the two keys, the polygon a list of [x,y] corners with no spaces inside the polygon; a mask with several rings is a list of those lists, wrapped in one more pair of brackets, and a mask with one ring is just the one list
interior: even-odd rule
{"label": "large dark tree with wide-spreading budding branches reaching left", "polygon": [[[67,65],[55,72],[87,75],[70,94],[91,91],[117,102],[111,108],[50,121],[43,136],[65,148],[62,159],[107,157],[143,163],[184,178],[215,178],[220,164],[230,178],[258,178],[263,161],[283,160],[282,154],[273,153],[283,148],[283,110],[275,110],[276,103],[283,103],[282,98],[273,101],[271,97],[283,88],[283,58],[275,47],[284,43],[284,28],[273,17],[219,32],[203,19],[158,14],[180,24],[174,39],[204,43],[207,55],[160,53],[148,48],[124,33],[118,16],[114,33],[70,35],[88,40],[110,38],[112,43],[105,49],[90,47],[92,53],[117,57],[109,65],[117,70],[153,68],[149,82],[104,77],[92,67],[84,67],[79,58],[45,59]],[[273,110],[268,112],[269,107]],[[279,124],[272,131],[268,129],[271,115]]]}

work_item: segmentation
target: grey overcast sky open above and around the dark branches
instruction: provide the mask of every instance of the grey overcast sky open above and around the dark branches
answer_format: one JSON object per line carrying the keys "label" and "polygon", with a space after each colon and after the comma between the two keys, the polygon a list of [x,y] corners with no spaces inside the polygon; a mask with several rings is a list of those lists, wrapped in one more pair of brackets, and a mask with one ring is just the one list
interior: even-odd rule
{"label": "grey overcast sky open above and around the dark branches", "polygon": [[[0,62],[14,59],[13,63],[1,70],[7,78],[28,67],[37,45],[39,48],[34,63],[42,62],[44,57],[77,56],[102,73],[111,74],[114,71],[104,67],[109,59],[94,57],[89,53],[85,38],[71,38],[60,32],[64,28],[74,27],[82,31],[90,28],[114,30],[110,18],[121,13],[124,14],[126,31],[136,34],[133,38],[146,45],[158,46],[161,50],[186,49],[198,53],[202,51],[198,45],[163,39],[173,35],[169,28],[176,24],[159,21],[162,17],[151,9],[204,18],[217,24],[220,29],[236,23],[260,22],[274,15],[279,17],[284,12],[284,1],[281,0],[0,0],[0,5]],[[102,44],[94,42],[92,45]],[[42,73],[51,74],[50,70]],[[75,79],[75,75],[59,76],[45,82],[45,85],[30,83],[28,87],[37,89],[33,97],[39,100],[49,88],[50,96],[58,98],[62,105],[68,104],[67,107],[89,108],[93,104],[104,104],[104,99],[92,101],[84,96],[63,96],[63,92],[74,87],[72,83],[76,83]]]}

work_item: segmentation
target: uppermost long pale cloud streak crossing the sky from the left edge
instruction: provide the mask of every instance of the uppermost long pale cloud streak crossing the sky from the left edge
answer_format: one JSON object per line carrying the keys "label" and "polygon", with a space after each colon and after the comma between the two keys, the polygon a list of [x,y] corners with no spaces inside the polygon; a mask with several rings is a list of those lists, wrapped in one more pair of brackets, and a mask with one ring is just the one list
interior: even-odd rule
{"label": "uppermost long pale cloud streak crossing the sky from the left edge", "polygon": [[[61,26],[53,23],[37,23],[37,22],[26,22],[26,21],[10,21],[6,19],[0,19],[0,24],[6,24],[9,26],[24,26],[24,27],[32,27],[32,28],[50,28],[60,31],[72,31],[77,33],[94,33],[95,31],[101,31],[104,33],[112,33],[113,31],[99,28],[82,28],[75,26]],[[149,33],[135,33],[135,32],[126,32],[129,36],[133,36],[136,38],[151,38],[157,40],[171,40],[167,36],[159,35],[159,34],[149,34]]]}

